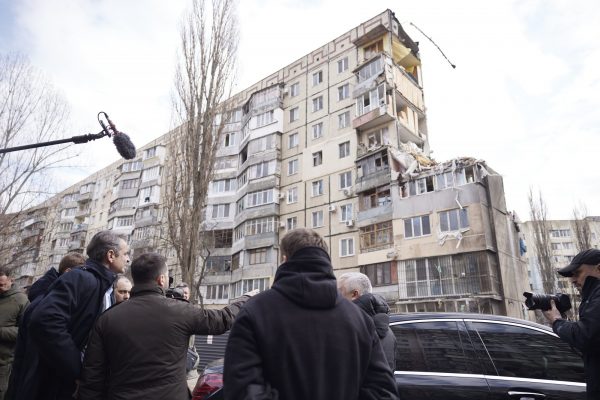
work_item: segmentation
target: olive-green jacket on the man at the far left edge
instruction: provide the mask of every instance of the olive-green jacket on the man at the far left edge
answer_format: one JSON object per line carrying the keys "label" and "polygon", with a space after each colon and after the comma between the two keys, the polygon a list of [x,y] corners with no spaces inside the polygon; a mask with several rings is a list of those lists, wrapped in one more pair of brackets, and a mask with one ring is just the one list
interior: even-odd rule
{"label": "olive-green jacket on the man at the far left edge", "polygon": [[0,366],[12,363],[18,326],[28,305],[27,296],[15,287],[0,293]]}

